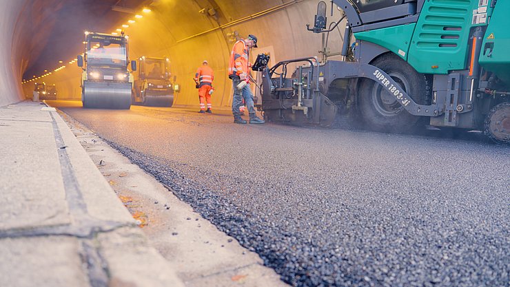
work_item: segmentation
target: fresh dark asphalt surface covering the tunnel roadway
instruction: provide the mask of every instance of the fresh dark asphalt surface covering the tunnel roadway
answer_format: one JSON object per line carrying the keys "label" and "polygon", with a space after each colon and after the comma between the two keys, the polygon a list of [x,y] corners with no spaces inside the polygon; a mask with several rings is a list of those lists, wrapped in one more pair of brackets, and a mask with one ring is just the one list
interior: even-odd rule
{"label": "fresh dark asphalt surface covering the tunnel roadway", "polygon": [[510,147],[50,102],[294,286],[509,286]]}

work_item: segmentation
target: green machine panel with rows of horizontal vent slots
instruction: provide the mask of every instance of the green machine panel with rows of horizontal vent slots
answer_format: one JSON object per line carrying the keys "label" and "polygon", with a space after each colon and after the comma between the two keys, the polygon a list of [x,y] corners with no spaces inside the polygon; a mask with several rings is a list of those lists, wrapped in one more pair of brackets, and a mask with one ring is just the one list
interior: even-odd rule
{"label": "green machine panel with rows of horizontal vent slots", "polygon": [[487,25],[487,12],[480,15],[476,12],[481,4],[485,4],[487,10],[485,2],[490,1],[426,1],[409,47],[408,63],[424,74],[465,70],[471,27]]}

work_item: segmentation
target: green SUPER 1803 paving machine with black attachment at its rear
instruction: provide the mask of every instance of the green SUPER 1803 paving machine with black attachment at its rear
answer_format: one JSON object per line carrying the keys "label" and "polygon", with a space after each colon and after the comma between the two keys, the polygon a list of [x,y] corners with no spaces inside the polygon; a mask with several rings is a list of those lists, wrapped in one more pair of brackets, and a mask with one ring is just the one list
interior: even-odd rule
{"label": "green SUPER 1803 paving machine with black attachment at its rear", "polygon": [[[377,131],[430,125],[476,129],[495,142],[510,142],[510,1],[332,0],[332,10],[334,5],[342,12],[338,21],[327,25],[328,4],[320,1],[307,28],[328,35],[347,18],[336,53],[342,61],[329,60],[335,53],[323,47],[320,61],[254,65],[263,73],[267,120],[329,126],[338,110]],[[287,65],[303,61],[307,65],[287,78]]]}

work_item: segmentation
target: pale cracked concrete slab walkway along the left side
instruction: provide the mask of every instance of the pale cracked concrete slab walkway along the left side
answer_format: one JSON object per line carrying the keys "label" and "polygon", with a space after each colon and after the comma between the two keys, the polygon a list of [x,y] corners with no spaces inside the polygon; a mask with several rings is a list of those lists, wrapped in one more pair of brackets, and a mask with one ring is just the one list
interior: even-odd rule
{"label": "pale cracked concrete slab walkway along the left side", "polygon": [[184,286],[59,114],[42,107],[0,109],[2,284]]}

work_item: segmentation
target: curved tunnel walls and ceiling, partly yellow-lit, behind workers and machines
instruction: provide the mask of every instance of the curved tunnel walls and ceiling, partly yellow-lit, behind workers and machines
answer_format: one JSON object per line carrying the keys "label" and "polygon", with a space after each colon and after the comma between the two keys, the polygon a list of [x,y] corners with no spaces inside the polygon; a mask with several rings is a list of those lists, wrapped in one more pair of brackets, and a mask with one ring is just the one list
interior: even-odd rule
{"label": "curved tunnel walls and ceiling, partly yellow-lit, behind workers and machines", "polygon": [[[194,73],[203,60],[215,72],[213,105],[231,103],[227,65],[236,39],[258,36],[258,53],[272,63],[316,56],[321,35],[306,30],[313,22],[314,0],[2,0],[4,25],[0,54],[0,105],[32,96],[35,83],[56,85],[59,99],[81,98],[81,68],[85,31],[120,33],[130,37],[130,59],[168,57],[175,83],[181,86],[175,105],[196,105]],[[334,10],[333,18],[340,18]],[[341,47],[340,29],[329,45]],[[337,45],[338,44],[338,45]],[[252,59],[253,61],[254,59]]]}

